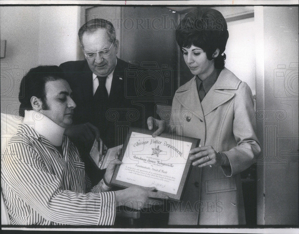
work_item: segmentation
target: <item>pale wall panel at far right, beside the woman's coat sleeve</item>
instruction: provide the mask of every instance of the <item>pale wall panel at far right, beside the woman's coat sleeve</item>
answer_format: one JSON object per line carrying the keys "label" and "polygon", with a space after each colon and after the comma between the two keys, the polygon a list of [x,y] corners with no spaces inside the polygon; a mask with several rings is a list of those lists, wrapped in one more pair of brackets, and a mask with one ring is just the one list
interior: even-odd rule
{"label": "pale wall panel at far right, beside the woman's coat sleeve", "polygon": [[298,7],[264,6],[260,18],[257,224],[298,225]]}

